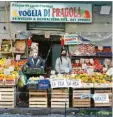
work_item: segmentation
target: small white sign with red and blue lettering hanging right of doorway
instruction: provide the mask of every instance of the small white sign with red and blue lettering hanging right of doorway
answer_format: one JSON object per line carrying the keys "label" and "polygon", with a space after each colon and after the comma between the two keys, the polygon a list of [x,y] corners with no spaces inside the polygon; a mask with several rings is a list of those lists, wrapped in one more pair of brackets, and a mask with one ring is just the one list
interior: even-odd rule
{"label": "small white sign with red and blue lettering hanging right of doorway", "polygon": [[64,44],[65,45],[74,45],[74,44],[80,44],[80,38],[77,34],[67,34],[64,35]]}

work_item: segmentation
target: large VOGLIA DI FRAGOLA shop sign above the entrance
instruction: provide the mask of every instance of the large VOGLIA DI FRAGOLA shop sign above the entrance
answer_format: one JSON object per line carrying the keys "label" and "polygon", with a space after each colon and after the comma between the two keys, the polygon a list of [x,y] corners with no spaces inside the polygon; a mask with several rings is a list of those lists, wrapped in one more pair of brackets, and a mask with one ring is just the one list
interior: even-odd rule
{"label": "large VOGLIA DI FRAGOLA shop sign above the entrance", "polygon": [[11,2],[12,22],[92,22],[92,5]]}

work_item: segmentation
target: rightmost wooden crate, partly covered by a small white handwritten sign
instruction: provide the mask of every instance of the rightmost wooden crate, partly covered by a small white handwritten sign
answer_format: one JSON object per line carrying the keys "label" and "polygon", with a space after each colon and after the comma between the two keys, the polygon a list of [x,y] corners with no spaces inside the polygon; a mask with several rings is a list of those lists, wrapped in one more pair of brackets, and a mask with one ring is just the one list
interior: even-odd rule
{"label": "rightmost wooden crate, partly covered by a small white handwritten sign", "polygon": [[96,103],[94,102],[95,107],[111,107],[112,106],[112,90],[111,89],[95,89],[94,94],[108,94],[109,102],[108,103]]}

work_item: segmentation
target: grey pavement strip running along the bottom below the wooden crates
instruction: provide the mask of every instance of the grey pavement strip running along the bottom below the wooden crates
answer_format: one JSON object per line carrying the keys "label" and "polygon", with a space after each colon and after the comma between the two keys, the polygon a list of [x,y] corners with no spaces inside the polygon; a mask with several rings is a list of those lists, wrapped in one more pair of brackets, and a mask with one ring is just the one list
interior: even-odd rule
{"label": "grey pavement strip running along the bottom below the wooden crates", "polygon": [[112,108],[14,108],[14,109],[0,109],[0,114],[21,114],[21,115],[48,115],[48,114],[72,114],[79,113],[80,111],[109,111],[112,112]]}

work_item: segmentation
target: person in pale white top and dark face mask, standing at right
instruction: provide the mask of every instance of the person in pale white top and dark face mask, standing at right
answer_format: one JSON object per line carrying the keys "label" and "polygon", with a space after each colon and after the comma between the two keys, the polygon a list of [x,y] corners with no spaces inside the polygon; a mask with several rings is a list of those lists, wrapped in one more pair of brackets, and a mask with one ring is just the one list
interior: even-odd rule
{"label": "person in pale white top and dark face mask, standing at right", "polygon": [[66,50],[61,51],[61,56],[56,60],[55,69],[57,73],[70,73],[72,71],[71,60],[67,57]]}

